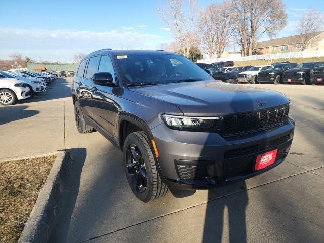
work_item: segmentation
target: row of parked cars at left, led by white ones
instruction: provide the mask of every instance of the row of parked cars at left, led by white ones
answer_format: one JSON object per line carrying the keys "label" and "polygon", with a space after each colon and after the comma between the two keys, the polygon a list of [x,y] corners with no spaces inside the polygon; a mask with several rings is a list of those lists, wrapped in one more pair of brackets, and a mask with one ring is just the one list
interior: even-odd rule
{"label": "row of parked cars at left, led by white ones", "polygon": [[42,93],[55,79],[55,75],[47,72],[0,70],[0,105],[12,105],[17,100]]}

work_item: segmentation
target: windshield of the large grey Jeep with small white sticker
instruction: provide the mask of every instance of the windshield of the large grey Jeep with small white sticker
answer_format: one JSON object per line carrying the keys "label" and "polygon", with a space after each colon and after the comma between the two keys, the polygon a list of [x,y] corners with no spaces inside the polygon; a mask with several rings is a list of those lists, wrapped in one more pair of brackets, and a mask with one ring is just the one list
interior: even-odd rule
{"label": "windshield of the large grey Jeep with small white sticker", "polygon": [[117,55],[117,61],[127,85],[211,80],[202,68],[182,55]]}

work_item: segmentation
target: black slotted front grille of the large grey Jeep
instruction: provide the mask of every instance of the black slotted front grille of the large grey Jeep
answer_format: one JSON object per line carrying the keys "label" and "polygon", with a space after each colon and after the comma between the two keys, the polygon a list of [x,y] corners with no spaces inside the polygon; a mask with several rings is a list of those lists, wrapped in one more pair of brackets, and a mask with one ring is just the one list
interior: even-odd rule
{"label": "black slotted front grille of the large grey Jeep", "polygon": [[262,131],[279,126],[288,119],[289,105],[258,112],[222,117],[221,133],[224,137]]}

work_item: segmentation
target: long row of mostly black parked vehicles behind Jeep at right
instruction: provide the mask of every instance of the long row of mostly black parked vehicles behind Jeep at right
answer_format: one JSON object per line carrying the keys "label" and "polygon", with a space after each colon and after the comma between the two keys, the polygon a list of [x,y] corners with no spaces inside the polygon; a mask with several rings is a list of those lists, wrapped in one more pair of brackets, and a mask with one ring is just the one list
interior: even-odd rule
{"label": "long row of mostly black parked vehicles behind Jeep at right", "polygon": [[203,69],[211,70],[211,75],[216,80],[227,83],[324,84],[324,61],[305,62],[299,65],[286,61],[272,63],[272,65],[223,68],[204,63],[197,65]]}

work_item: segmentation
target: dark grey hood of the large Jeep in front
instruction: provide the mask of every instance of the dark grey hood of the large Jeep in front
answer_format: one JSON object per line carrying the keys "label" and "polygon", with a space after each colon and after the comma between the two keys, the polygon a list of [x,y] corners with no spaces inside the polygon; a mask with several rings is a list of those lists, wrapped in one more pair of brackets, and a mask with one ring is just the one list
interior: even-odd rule
{"label": "dark grey hood of the large Jeep in front", "polygon": [[210,116],[247,112],[289,103],[279,92],[217,81],[185,82],[129,88],[176,105],[184,115]]}

